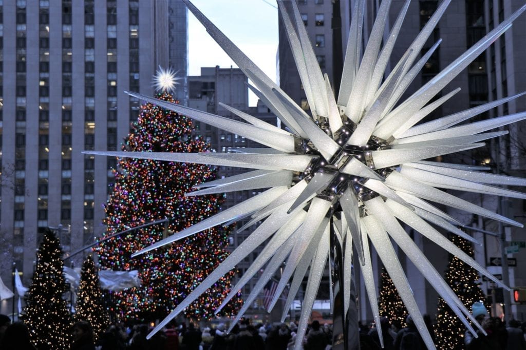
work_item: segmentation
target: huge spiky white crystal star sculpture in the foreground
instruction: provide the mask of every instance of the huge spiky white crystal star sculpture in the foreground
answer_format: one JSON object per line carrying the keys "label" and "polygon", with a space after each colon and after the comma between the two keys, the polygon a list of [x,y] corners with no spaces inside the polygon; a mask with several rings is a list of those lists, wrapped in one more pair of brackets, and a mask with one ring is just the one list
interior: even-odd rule
{"label": "huge spiky white crystal star sculpture in the foreground", "polygon": [[[285,318],[305,274],[308,273],[296,338],[296,348],[299,349],[322,273],[332,249],[330,235],[335,235],[336,243],[341,249],[344,313],[349,309],[351,256],[355,251],[362,265],[360,270],[375,321],[377,324],[380,323],[375,278],[371,267],[371,243],[392,277],[424,342],[428,348],[434,349],[407,277],[393,249],[392,240],[448,302],[466,327],[474,333],[470,320],[480,328],[466,306],[403,229],[401,222],[420,232],[440,248],[456,255],[493,282],[502,285],[491,273],[444,238],[430,224],[474,241],[457,228],[458,221],[435,206],[439,204],[522,227],[519,222],[458,198],[443,189],[525,199],[524,194],[499,185],[525,186],[526,181],[484,172],[488,168],[447,164],[429,161],[429,159],[474,149],[484,145],[481,143],[484,140],[507,133],[487,131],[523,120],[526,118],[526,112],[472,123],[466,121],[522,94],[443,116],[430,122],[419,122],[459,91],[459,89],[453,90],[438,100],[430,102],[474,58],[510,28],[512,21],[526,9],[526,6],[490,31],[409,98],[401,101],[403,92],[440,44],[440,41],[437,42],[418,59],[424,43],[450,1],[444,0],[440,4],[389,74],[386,72],[386,65],[410,1],[404,3],[385,41],[382,40],[382,35],[391,1],[381,2],[368,44],[363,48],[363,55],[361,55],[361,42],[365,0],[356,1],[352,10],[342,83],[339,94],[335,97],[329,78],[320,70],[296,3],[291,2],[291,10],[289,10],[284,1],[278,0],[281,19],[310,106],[311,115],[309,115],[193,4],[184,0],[208,33],[254,83],[250,89],[287,126],[287,131],[225,104],[221,106],[239,116],[244,122],[128,92],[130,96],[183,113],[199,122],[247,137],[266,146],[257,149],[231,149],[230,153],[89,152],[118,157],[254,169],[241,175],[201,184],[198,190],[187,196],[268,188],[234,207],[134,254],[136,256],[146,253],[201,230],[241,218],[249,217],[251,220],[240,230],[262,221],[257,229],[183,302],[177,305],[150,335],[163,328],[223,274],[234,268],[258,246],[267,242],[220,307],[224,306],[260,269],[265,268],[254,290],[245,301],[245,306],[234,320],[234,323],[237,322],[285,262],[277,292],[269,308],[276,304],[286,284],[290,282],[284,307]],[[382,42],[383,46],[381,46]]]}

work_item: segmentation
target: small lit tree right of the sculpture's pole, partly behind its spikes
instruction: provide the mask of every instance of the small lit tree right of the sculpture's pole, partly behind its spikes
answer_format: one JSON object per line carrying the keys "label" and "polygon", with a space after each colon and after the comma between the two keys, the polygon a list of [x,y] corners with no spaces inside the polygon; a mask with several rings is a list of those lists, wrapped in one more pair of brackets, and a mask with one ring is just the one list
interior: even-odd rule
{"label": "small lit tree right of the sculpture's pole, partly behind its spikes", "polygon": [[389,322],[398,329],[403,328],[406,324],[409,312],[385,267],[382,267],[378,308],[380,316],[387,317]]}

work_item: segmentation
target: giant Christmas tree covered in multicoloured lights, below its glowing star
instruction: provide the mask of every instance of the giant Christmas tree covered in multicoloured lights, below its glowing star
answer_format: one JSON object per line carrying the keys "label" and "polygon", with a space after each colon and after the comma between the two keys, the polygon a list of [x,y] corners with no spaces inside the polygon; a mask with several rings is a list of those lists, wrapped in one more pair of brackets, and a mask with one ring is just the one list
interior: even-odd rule
{"label": "giant Christmas tree covered in multicoloured lights, below its glowing star", "polygon": [[[168,92],[158,99],[175,102]],[[141,106],[138,121],[125,139],[124,151],[207,152],[209,145],[192,136],[189,118],[156,105]],[[112,270],[139,270],[141,287],[113,294],[118,317],[159,318],[166,316],[218,264],[228,256],[230,227],[214,227],[139,257],[131,253],[165,238],[173,232],[216,214],[224,200],[220,195],[185,197],[192,187],[215,178],[208,165],[181,164],[124,158],[119,161],[115,185],[105,206],[106,236],[154,220],[168,218],[168,225],[156,224],[109,239],[96,251],[100,265]],[[186,316],[208,319],[230,292],[230,271],[186,310]],[[238,295],[221,315],[231,315],[241,306]]]}

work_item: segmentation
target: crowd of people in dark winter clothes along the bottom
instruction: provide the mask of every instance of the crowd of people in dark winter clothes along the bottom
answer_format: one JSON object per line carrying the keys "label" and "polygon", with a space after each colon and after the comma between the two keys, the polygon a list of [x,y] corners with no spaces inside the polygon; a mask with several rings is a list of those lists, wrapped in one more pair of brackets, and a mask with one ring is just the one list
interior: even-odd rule
{"label": "crowd of people in dark winter clothes along the bottom", "polygon": [[[512,320],[508,327],[499,317],[490,317],[482,303],[472,305],[472,315],[479,322],[477,336],[464,334],[466,350],[526,350],[526,322]],[[433,337],[431,319],[424,315]],[[293,350],[298,325],[252,323],[243,320],[227,332],[224,323],[201,325],[171,322],[163,331],[149,340],[152,325],[126,326],[116,323],[108,327],[95,342],[92,326],[79,321],[72,327],[72,350]],[[382,341],[379,338],[381,328]],[[379,350],[383,343],[386,350],[424,350],[424,344],[411,316],[406,327],[397,330],[386,317],[380,325],[359,324],[361,350]],[[434,339],[433,339],[434,341]],[[330,350],[332,326],[312,321],[300,342],[302,350]],[[29,330],[23,322],[11,323],[9,317],[0,315],[0,350],[35,350],[29,339]],[[41,350],[41,349],[38,349]]]}

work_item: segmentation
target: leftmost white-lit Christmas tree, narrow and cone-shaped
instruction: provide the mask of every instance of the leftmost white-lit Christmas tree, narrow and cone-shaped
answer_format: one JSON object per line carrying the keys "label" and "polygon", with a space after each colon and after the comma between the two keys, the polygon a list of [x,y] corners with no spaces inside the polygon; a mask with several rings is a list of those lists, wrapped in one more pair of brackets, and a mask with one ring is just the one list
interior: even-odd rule
{"label": "leftmost white-lit Christmas tree, narrow and cone-shaped", "polygon": [[53,231],[46,230],[22,315],[31,341],[39,349],[69,348],[72,318],[63,299],[66,280],[62,255],[58,238]]}

